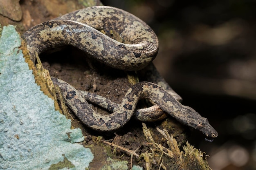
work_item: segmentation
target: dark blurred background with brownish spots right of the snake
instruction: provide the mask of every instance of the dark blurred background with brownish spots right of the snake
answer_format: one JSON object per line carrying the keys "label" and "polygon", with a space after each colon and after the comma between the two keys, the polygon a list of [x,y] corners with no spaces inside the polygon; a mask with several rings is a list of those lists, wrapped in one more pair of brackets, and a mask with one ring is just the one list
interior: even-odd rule
{"label": "dark blurred background with brownish spots right of the snake", "polygon": [[256,1],[101,0],[133,13],[159,38],[154,63],[173,89],[219,133],[213,170],[256,170]]}

